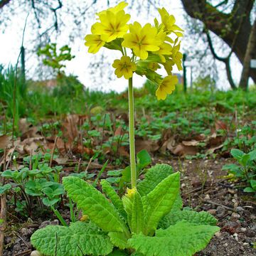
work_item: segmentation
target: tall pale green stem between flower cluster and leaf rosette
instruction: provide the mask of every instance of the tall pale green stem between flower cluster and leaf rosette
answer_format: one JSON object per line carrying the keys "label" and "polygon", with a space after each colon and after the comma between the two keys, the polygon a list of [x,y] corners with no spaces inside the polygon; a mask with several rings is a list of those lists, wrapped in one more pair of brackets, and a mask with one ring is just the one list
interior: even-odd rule
{"label": "tall pale green stem between flower cluster and leaf rosette", "polygon": [[132,78],[129,78],[128,88],[129,98],[129,151],[130,151],[130,166],[131,166],[131,181],[132,188],[136,188],[136,160],[135,160],[135,142],[134,142],[134,95],[132,88]]}

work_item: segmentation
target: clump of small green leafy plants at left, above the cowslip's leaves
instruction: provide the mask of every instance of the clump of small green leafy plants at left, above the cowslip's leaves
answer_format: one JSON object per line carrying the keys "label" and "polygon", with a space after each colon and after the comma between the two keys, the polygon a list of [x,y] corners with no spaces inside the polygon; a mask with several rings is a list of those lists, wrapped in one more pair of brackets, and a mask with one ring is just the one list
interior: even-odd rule
{"label": "clump of small green leafy plants at left, above the cowslip's leaves", "polygon": [[[1,173],[8,183],[0,187],[0,194],[9,191],[15,210],[21,215],[31,216],[33,209],[43,205],[54,207],[65,193],[60,184],[62,166],[51,168],[48,165],[50,154],[30,156],[23,159],[25,167],[19,170],[6,170]],[[26,167],[32,164],[32,168]],[[42,204],[43,203],[43,204]]]}

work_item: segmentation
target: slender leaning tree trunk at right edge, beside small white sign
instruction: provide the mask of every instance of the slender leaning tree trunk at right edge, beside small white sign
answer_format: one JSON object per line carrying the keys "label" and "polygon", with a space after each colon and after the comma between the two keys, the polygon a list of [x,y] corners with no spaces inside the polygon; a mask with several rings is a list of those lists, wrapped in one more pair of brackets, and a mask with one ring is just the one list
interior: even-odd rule
{"label": "slender leaning tree trunk at right edge, beside small white sign", "polygon": [[[245,52],[245,59],[242,65],[242,75],[239,83],[239,87],[242,88],[242,90],[247,90],[250,76],[250,60],[253,57],[256,57],[256,20],[252,26],[247,50]],[[256,73],[256,70],[254,70],[254,72]]]}

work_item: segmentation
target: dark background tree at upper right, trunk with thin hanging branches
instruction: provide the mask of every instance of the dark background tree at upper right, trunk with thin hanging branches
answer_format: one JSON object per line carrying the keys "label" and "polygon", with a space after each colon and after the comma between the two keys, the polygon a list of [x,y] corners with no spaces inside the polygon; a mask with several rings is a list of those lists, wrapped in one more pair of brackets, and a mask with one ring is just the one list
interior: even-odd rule
{"label": "dark background tree at upper right, trunk with thin hanging branches", "polygon": [[[230,56],[232,53],[238,57],[240,63],[244,63],[245,53],[248,47],[252,24],[250,22],[250,14],[252,12],[255,0],[235,0],[235,1],[220,1],[215,6],[206,0],[181,0],[186,13],[192,18],[196,18],[203,22],[203,31],[207,34],[208,43],[213,56],[225,63],[228,74],[228,80],[231,87],[235,88],[231,71],[230,71]],[[228,4],[233,7],[227,13],[225,8]],[[220,10],[221,9],[221,10]],[[215,53],[213,43],[210,38],[209,31],[215,33],[229,47],[230,53],[225,58],[219,57]],[[253,43],[253,42],[252,42]],[[256,49],[255,45],[252,49]],[[255,53],[252,53],[253,55]],[[250,69],[247,72],[252,80],[256,83],[256,72]],[[240,87],[245,89],[247,84],[240,83]]]}

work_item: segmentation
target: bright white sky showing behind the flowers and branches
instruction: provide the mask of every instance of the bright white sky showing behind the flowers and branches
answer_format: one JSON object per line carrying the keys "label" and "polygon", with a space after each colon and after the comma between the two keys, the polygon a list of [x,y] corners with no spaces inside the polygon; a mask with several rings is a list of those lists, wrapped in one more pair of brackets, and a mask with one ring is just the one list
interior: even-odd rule
{"label": "bright white sky showing behind the flowers and branches", "polygon": [[[82,0],[64,0],[63,1],[63,13],[68,13],[68,6],[70,4],[73,4],[74,2],[76,4],[79,4],[79,2]],[[128,4],[131,3],[132,0],[127,1]],[[114,6],[117,3],[117,1],[110,1],[110,6]],[[149,13],[146,12],[146,3],[148,1],[139,1],[134,0],[135,6],[141,5],[142,11],[138,13],[138,11],[131,9],[126,9],[127,13],[131,14],[131,20],[129,22],[139,21],[142,24],[145,24],[147,22],[154,23],[154,17],[159,18],[159,14],[155,7],[151,6],[151,9],[149,10]],[[161,6],[164,6],[167,11],[169,11],[169,14],[174,14],[176,18],[176,24],[183,28],[186,31],[186,21],[184,21],[183,15],[185,14],[185,11],[183,10],[183,6],[181,4],[181,1],[179,0],[166,0],[161,1]],[[157,6],[157,7],[161,7]],[[95,4],[92,9],[88,10],[90,11],[90,16],[87,18],[87,23],[85,26],[82,27],[82,33],[84,36],[87,33],[90,33],[90,26],[92,23],[95,23],[95,16],[93,15],[95,11],[101,11],[103,9],[107,9],[107,1],[106,0],[98,0],[97,4]],[[23,12],[20,14],[17,14],[16,16],[13,16],[11,19],[11,23],[9,23],[8,28],[2,33],[0,32],[0,63],[4,64],[6,67],[11,63],[12,65],[15,65],[19,49],[21,46],[21,40],[22,40],[22,31],[23,26],[26,20],[27,13]],[[28,25],[26,27],[25,31],[25,37],[24,37],[24,46],[27,48],[27,53],[30,52],[31,49],[33,49],[33,43],[31,43],[33,40],[36,39],[36,33],[33,31],[33,29],[30,26],[31,20],[34,18],[33,14],[29,14],[28,16]],[[68,14],[63,14],[62,18],[67,19],[69,18]],[[71,21],[70,21],[71,22]],[[46,24],[47,25],[47,24]],[[59,47],[65,45],[68,43],[68,45],[72,48],[72,53],[75,55],[75,58],[68,62],[66,65],[65,72],[68,74],[77,75],[79,80],[85,85],[85,87],[89,87],[92,90],[105,90],[110,91],[114,90],[117,92],[122,92],[127,87],[127,80],[124,78],[115,78],[115,76],[112,76],[112,80],[108,80],[108,74],[110,73],[110,70],[112,69],[114,73],[114,69],[111,67],[111,63],[116,58],[120,58],[121,55],[118,51],[114,50],[108,50],[106,48],[101,48],[100,52],[96,55],[92,55],[90,53],[87,53],[87,48],[84,46],[85,41],[83,40],[84,36],[75,36],[73,43],[70,43],[69,36],[74,32],[73,31],[74,26],[67,26],[64,31],[61,31],[61,33],[58,36],[53,36],[53,38],[50,38],[52,42],[56,42]],[[81,31],[79,31],[81,32]],[[79,34],[79,33],[78,33]],[[183,41],[189,42],[189,36],[186,35],[183,38]],[[189,45],[186,43],[186,45]],[[203,47],[200,46],[199,47]],[[181,52],[183,52],[183,47],[181,43]],[[189,56],[189,48],[186,49],[186,52]],[[92,69],[90,69],[90,63],[93,63],[94,60],[97,60],[100,58],[100,56],[104,54],[106,64],[105,67],[100,67],[96,70],[94,70],[94,74],[92,75]],[[190,59],[191,60],[191,59]],[[200,63],[195,63],[195,61],[192,60],[192,68],[193,68],[193,74],[196,73],[196,70],[198,69],[198,65]],[[234,74],[235,81],[238,82],[240,78],[241,73],[241,65],[238,63],[238,60],[236,58],[232,59],[232,70]],[[26,54],[26,76],[27,78],[36,78],[35,73],[38,71],[38,58],[36,57],[35,53],[28,53]],[[223,63],[218,63],[218,68],[221,70],[220,79],[218,80],[218,87],[221,89],[227,89],[229,87],[228,82],[226,80],[225,76],[225,68],[223,66]],[[178,70],[174,70],[178,71]],[[191,68],[188,68],[188,84],[190,84],[190,72]],[[135,87],[141,87],[143,83],[145,82],[145,78],[141,78],[138,75],[134,76],[134,86]]]}

